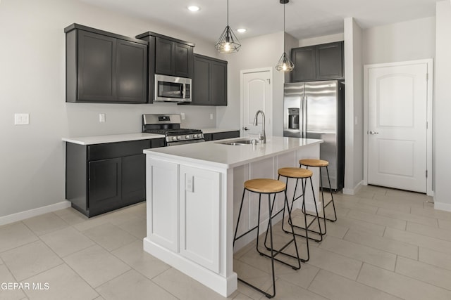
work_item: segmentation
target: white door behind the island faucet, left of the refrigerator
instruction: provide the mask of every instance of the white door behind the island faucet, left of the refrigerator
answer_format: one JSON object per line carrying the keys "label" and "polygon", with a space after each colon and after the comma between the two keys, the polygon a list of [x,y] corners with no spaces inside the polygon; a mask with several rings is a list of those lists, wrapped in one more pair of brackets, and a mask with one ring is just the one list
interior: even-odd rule
{"label": "white door behind the island faucet, left of the refrigerator", "polygon": [[258,137],[263,122],[259,115],[259,124],[254,126],[258,110],[263,110],[266,117],[266,136],[273,135],[272,75],[271,68],[241,71],[241,136]]}

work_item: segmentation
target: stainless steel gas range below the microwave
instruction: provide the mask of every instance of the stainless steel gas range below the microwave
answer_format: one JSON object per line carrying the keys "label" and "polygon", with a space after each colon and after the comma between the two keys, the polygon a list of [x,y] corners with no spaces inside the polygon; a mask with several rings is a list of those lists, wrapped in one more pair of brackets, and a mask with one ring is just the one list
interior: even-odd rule
{"label": "stainless steel gas range below the microwave", "polygon": [[166,136],[166,146],[204,142],[200,129],[180,128],[180,115],[142,115],[142,132]]}

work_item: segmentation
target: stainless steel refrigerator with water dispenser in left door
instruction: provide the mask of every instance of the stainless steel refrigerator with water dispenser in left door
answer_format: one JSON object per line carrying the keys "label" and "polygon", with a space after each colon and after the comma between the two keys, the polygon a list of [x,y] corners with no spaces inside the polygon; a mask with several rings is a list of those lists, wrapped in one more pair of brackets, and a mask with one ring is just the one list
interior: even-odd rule
{"label": "stainless steel refrigerator with water dispenser in left door", "polygon": [[[305,81],[285,84],[283,136],[319,138],[320,158],[329,162],[330,188],[341,190],[345,178],[345,84]],[[326,171],[323,187],[329,188]]]}

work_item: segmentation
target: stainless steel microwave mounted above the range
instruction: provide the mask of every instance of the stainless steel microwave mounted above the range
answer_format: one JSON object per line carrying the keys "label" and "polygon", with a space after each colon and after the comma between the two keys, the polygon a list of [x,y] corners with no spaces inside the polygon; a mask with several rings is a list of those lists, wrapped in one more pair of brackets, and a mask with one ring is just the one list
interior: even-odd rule
{"label": "stainless steel microwave mounted above the range", "polygon": [[155,74],[155,102],[191,102],[191,79]]}

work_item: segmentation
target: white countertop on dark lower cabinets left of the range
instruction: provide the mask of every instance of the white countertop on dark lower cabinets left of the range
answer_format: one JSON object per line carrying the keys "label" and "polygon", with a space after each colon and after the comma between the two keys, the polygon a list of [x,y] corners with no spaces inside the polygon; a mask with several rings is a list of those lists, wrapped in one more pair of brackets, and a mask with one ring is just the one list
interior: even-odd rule
{"label": "white countertop on dark lower cabinets left of the range", "polygon": [[64,142],[75,143],[79,145],[94,145],[104,143],[116,143],[126,141],[149,140],[152,138],[165,138],[161,134],[153,133],[125,133],[114,134],[111,136],[82,136],[79,138],[62,138]]}

